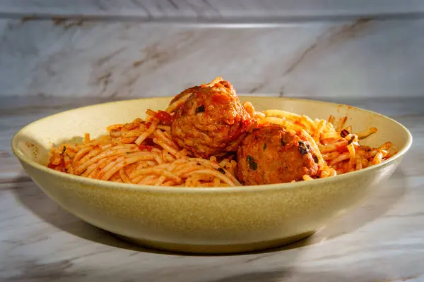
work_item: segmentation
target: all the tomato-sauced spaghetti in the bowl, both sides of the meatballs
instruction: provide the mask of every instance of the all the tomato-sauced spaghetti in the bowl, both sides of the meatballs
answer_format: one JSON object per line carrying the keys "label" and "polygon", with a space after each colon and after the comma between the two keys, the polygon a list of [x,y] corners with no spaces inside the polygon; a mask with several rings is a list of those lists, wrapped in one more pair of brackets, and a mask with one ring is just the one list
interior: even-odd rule
{"label": "all the tomato-sauced spaghetti in the bowl, both sides of the meatballs", "polygon": [[[86,133],[79,144],[65,143],[54,147],[49,168],[57,171],[117,183],[139,185],[225,187],[241,185],[235,177],[237,163],[233,156],[223,159],[201,159],[172,140],[172,113],[187,99],[187,95],[172,102],[166,111],[148,110],[148,118],[136,118],[131,123],[110,125],[107,135],[91,139]],[[278,124],[310,142],[317,153],[317,178],[358,171],[379,164],[396,153],[391,142],[371,148],[359,140],[377,132],[370,128],[352,133],[345,126],[347,118],[335,121],[312,120],[288,111],[255,111],[245,102],[246,111],[258,126]],[[303,180],[313,180],[305,175]]]}

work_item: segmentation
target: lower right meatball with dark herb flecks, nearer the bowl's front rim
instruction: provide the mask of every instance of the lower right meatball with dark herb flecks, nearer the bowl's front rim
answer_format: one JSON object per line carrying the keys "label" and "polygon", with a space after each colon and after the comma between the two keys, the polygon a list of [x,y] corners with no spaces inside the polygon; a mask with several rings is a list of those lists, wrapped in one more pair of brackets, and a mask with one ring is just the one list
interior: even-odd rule
{"label": "lower right meatball with dark herb flecks, nearer the bowl's front rim", "polygon": [[317,175],[317,156],[310,143],[268,125],[245,137],[237,151],[237,176],[245,185],[286,183]]}

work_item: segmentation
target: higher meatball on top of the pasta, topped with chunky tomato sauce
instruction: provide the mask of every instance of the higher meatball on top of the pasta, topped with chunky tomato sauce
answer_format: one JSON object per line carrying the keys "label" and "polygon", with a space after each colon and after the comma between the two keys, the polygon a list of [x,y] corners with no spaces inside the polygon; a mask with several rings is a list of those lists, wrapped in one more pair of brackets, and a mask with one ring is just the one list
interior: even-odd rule
{"label": "higher meatball on top of the pasta, topped with chunky tomato sauce", "polygon": [[173,116],[172,139],[195,157],[205,159],[237,151],[242,138],[257,123],[230,82],[218,79],[189,88],[189,92],[192,94]]}

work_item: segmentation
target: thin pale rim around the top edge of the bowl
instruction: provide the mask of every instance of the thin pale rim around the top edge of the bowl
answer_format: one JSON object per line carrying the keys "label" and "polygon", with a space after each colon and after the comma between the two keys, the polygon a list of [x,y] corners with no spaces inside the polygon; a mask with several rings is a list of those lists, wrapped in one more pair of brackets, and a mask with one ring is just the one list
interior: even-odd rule
{"label": "thin pale rim around the top edge of the bowl", "polygon": [[[239,96],[241,97],[245,97],[247,99],[249,98],[254,98],[257,99],[257,96],[252,96],[252,95],[242,95],[239,94]],[[167,187],[167,186],[152,186],[152,185],[139,185],[139,184],[132,184],[132,183],[116,183],[116,182],[112,182],[112,181],[107,181],[107,180],[98,180],[98,179],[92,179],[92,178],[86,178],[83,176],[75,176],[69,173],[64,173],[61,171],[55,171],[52,168],[47,168],[47,166],[43,166],[42,164],[38,164],[37,162],[33,161],[32,159],[28,158],[25,156],[25,154],[23,154],[23,152],[21,152],[21,150],[18,148],[17,146],[17,142],[18,142],[18,135],[20,135],[21,132],[23,132],[23,130],[25,130],[26,128],[30,127],[31,125],[35,124],[35,123],[41,123],[42,121],[45,121],[48,118],[54,118],[55,116],[58,116],[60,114],[64,114],[66,112],[70,112],[70,111],[76,111],[76,110],[80,110],[80,109],[86,109],[86,108],[94,108],[94,107],[98,107],[98,106],[105,106],[105,105],[110,105],[110,104],[124,104],[124,103],[128,103],[128,102],[135,102],[135,101],[146,101],[146,100],[151,100],[151,99],[172,99],[173,97],[149,97],[149,98],[136,98],[136,99],[124,99],[124,100],[119,100],[119,101],[113,101],[113,102],[105,102],[105,103],[99,103],[99,104],[93,104],[93,105],[88,105],[88,106],[81,106],[75,109],[69,109],[66,111],[61,111],[59,113],[56,114],[52,114],[49,116],[45,116],[43,118],[39,118],[36,121],[33,121],[31,123],[28,123],[28,125],[25,125],[23,128],[21,128],[20,130],[18,130],[17,133],[15,133],[15,135],[13,135],[13,138],[11,140],[11,148],[13,151],[13,154],[15,154],[15,156],[20,160],[23,161],[25,164],[28,164],[28,166],[32,166],[33,168],[45,172],[47,174],[52,174],[54,176],[57,176],[59,178],[62,178],[64,180],[69,180],[71,182],[74,183],[82,183],[82,184],[86,184],[86,185],[92,185],[92,186],[97,186],[97,187],[101,187],[101,188],[113,188],[113,189],[119,189],[119,190],[140,190],[140,191],[145,191],[145,192],[201,192],[201,193],[208,193],[208,192],[257,192],[257,191],[265,191],[265,190],[278,190],[278,189],[294,189],[294,188],[300,188],[300,187],[313,187],[313,186],[317,186],[317,185],[323,185],[325,183],[331,183],[334,181],[338,181],[338,180],[348,180],[348,178],[355,178],[356,176],[360,176],[363,175],[364,173],[367,173],[368,171],[379,171],[382,168],[389,166],[390,164],[394,163],[394,161],[396,161],[397,159],[400,159],[402,157],[404,157],[404,155],[406,154],[406,152],[408,152],[408,149],[411,147],[412,145],[412,141],[413,141],[413,137],[411,135],[411,133],[409,132],[409,130],[402,125],[401,123],[399,123],[398,121],[395,121],[392,118],[389,118],[388,116],[384,116],[382,114],[378,114],[375,111],[370,111],[367,109],[362,109],[362,108],[358,108],[356,106],[349,106],[346,104],[337,104],[334,102],[325,102],[325,101],[320,101],[320,100],[315,100],[315,99],[299,99],[299,98],[292,98],[292,97],[260,97],[261,99],[283,99],[283,100],[294,100],[294,101],[299,101],[299,102],[315,102],[318,104],[332,104],[334,106],[348,106],[350,109],[358,109],[360,111],[365,111],[369,114],[375,114],[377,116],[381,116],[383,118],[387,118],[389,119],[389,121],[396,123],[397,125],[399,125],[401,127],[402,130],[404,130],[404,133],[407,137],[406,140],[406,145],[404,145],[404,147],[401,147],[401,149],[399,149],[399,152],[397,152],[393,157],[391,157],[390,159],[387,159],[386,161],[383,161],[380,164],[377,164],[375,166],[368,166],[367,168],[363,168],[360,169],[359,171],[352,171],[350,173],[344,173],[341,175],[337,175],[337,176],[333,176],[333,177],[328,177],[328,178],[319,178],[319,179],[314,179],[312,181],[298,181],[295,183],[276,183],[276,184],[265,184],[265,185],[250,185],[250,186],[231,186],[231,187],[225,187],[225,188],[194,188],[194,187]],[[307,184],[307,185],[305,185]]]}

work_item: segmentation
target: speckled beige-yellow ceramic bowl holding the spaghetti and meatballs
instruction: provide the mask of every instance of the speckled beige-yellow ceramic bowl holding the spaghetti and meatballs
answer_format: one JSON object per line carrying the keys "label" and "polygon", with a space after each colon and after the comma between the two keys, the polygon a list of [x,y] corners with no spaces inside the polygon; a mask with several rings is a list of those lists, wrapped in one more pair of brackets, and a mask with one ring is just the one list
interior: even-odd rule
{"label": "speckled beige-yellow ceramic bowl holding the spaghetti and meatballs", "polygon": [[284,109],[311,118],[348,116],[360,131],[379,132],[367,145],[391,141],[399,153],[382,164],[333,178],[235,188],[164,188],[93,180],[45,167],[54,144],[107,125],[165,109],[170,98],[136,99],[65,111],[20,130],[13,152],[40,188],[72,214],[126,240],[177,252],[228,253],[276,247],[304,238],[391,176],[411,146],[404,126],[363,109],[302,99],[242,97],[256,109]]}

